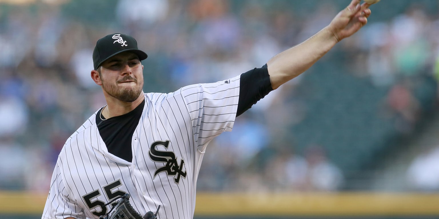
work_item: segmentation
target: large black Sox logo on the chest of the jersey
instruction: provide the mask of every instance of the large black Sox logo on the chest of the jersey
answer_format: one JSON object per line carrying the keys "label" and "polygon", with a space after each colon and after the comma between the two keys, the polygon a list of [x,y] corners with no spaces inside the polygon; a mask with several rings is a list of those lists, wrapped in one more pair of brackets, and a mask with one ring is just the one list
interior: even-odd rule
{"label": "large black Sox logo on the chest of the jersey", "polygon": [[158,145],[165,148],[169,147],[169,141],[155,141],[149,150],[149,157],[155,162],[163,162],[165,166],[158,168],[154,177],[161,172],[166,172],[168,176],[173,176],[176,183],[180,182],[180,177],[186,178],[186,171],[183,172],[184,160],[180,160],[180,165],[177,162],[175,153],[172,151],[159,151],[156,149]]}

